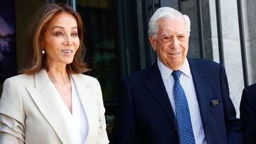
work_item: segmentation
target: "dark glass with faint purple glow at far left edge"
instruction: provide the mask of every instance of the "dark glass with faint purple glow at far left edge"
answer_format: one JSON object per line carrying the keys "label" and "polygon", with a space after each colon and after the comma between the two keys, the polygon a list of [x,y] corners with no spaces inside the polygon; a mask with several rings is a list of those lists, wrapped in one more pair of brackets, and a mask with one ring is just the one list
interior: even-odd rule
{"label": "dark glass with faint purple glow at far left edge", "polygon": [[[0,1],[0,83],[16,75],[14,0]],[[12,65],[10,65],[12,64]],[[0,88],[1,89],[1,88]]]}

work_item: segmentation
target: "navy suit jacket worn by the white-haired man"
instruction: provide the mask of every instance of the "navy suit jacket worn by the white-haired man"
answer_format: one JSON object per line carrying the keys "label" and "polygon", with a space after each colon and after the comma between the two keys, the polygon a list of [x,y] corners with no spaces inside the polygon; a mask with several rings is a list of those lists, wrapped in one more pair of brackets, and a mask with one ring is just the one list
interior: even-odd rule
{"label": "navy suit jacket worn by the white-haired man", "polygon": [[[241,143],[223,66],[188,59],[208,144]],[[177,123],[157,64],[124,79],[112,144],[178,143]],[[220,101],[211,104],[212,100]]]}

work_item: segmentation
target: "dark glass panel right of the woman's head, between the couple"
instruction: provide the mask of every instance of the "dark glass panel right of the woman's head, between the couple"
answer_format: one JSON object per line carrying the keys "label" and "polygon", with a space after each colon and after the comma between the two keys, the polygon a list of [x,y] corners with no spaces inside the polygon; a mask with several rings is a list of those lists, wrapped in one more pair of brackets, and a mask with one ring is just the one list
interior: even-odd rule
{"label": "dark glass panel right of the woman's head, between the couple", "polygon": [[117,37],[116,0],[78,0],[77,11],[84,22],[85,60],[91,71],[87,74],[99,80],[105,100],[107,133],[114,123],[112,99],[119,97],[121,70]]}

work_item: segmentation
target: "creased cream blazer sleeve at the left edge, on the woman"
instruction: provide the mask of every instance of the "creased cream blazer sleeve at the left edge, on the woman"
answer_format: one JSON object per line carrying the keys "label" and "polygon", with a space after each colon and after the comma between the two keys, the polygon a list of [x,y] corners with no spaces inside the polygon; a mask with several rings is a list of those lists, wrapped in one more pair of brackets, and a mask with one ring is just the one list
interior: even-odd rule
{"label": "creased cream blazer sleeve at the left edge, on the woman", "polygon": [[25,143],[25,113],[20,88],[6,79],[0,99],[0,143]]}

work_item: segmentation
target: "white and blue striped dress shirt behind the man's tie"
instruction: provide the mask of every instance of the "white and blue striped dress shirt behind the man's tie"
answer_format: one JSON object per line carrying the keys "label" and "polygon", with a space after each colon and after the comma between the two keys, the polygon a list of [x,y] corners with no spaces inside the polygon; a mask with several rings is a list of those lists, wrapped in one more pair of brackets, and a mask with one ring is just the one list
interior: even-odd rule
{"label": "white and blue striped dress shirt behind the man's tie", "polygon": [[[171,101],[171,106],[176,115],[175,111],[175,101],[174,101],[174,77],[171,75],[173,70],[166,67],[159,58],[157,59],[157,65],[161,72],[161,77],[164,82],[164,86],[166,88],[166,92]],[[196,97],[196,89],[193,83],[193,77],[191,74],[191,70],[188,64],[188,60],[186,59],[181,67],[181,77],[179,78],[181,82],[181,86],[186,94],[186,99],[188,100],[188,108],[191,115],[191,123],[193,128],[193,135],[196,140],[196,144],[206,144],[206,135],[203,130],[203,123],[201,119],[201,113],[198,106],[198,100]]]}

